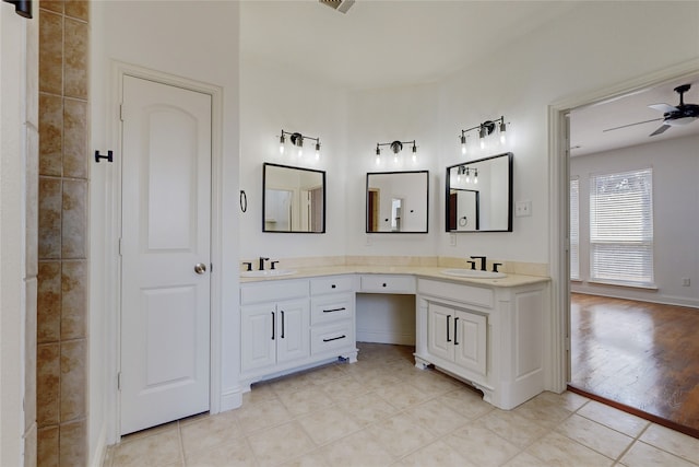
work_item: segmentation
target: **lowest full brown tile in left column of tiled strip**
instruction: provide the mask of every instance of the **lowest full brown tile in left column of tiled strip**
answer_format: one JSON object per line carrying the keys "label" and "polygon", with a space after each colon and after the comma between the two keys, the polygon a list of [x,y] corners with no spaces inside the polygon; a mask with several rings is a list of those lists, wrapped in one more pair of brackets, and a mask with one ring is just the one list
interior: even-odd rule
{"label": "lowest full brown tile in left column of tiled strip", "polygon": [[39,428],[58,424],[60,346],[43,343],[36,351],[36,421]]}

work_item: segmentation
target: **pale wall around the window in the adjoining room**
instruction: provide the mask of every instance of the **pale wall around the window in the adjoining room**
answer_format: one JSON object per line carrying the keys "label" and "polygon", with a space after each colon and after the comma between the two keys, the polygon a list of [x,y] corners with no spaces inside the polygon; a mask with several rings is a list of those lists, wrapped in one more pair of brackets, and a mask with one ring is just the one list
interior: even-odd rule
{"label": "pale wall around the window in the adjoining room", "polygon": [[[574,128],[572,129],[574,131]],[[670,130],[672,131],[672,129]],[[580,177],[580,277],[571,290],[699,307],[699,136],[571,157]],[[656,291],[590,284],[590,175],[653,170],[653,266]],[[690,279],[690,287],[682,285]]]}

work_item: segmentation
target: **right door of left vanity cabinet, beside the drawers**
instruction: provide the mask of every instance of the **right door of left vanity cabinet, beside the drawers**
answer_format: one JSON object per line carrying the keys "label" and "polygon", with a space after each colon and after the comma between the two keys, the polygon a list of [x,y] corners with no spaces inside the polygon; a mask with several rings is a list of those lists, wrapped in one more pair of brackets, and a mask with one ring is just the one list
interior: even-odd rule
{"label": "right door of left vanity cabinet, beside the drawers", "polygon": [[276,361],[303,359],[310,354],[310,306],[308,300],[280,302],[276,305]]}

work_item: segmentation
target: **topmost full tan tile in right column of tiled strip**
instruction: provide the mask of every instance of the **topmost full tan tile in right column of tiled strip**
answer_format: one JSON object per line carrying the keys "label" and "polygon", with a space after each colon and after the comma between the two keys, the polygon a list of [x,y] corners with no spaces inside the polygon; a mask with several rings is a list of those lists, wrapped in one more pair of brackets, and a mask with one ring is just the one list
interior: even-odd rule
{"label": "topmost full tan tile in right column of tiled strip", "polygon": [[63,95],[87,98],[87,24],[66,19]]}

